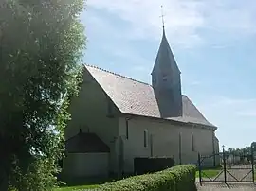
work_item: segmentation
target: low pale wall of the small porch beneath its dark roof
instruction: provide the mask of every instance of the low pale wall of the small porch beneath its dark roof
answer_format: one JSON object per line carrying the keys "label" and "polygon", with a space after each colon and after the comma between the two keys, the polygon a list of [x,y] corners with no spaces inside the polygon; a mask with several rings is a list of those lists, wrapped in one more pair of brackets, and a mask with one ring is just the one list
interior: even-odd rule
{"label": "low pale wall of the small porch beneath its dark roof", "polygon": [[107,177],[109,153],[69,153],[64,159],[64,176]]}

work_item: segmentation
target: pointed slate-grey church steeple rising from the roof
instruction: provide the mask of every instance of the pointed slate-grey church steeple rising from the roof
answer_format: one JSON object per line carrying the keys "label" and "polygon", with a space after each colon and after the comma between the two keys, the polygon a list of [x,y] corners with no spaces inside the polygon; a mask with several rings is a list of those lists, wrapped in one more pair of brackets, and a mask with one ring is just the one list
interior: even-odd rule
{"label": "pointed slate-grey church steeple rising from the roof", "polygon": [[180,74],[163,27],[162,40],[151,73],[152,86],[158,105],[160,104],[162,108],[165,108],[162,112],[163,117],[182,115]]}

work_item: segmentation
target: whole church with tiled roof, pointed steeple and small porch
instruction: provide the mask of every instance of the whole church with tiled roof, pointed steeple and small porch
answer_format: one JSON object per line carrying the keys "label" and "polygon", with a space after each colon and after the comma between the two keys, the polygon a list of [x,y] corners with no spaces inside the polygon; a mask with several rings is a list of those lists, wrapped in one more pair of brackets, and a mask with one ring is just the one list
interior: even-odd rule
{"label": "whole church with tiled roof, pointed steeple and small porch", "polygon": [[164,28],[151,76],[148,84],[84,65],[65,130],[65,175],[130,174],[136,157],[197,164],[198,153],[219,152],[217,127],[181,93],[181,73]]}

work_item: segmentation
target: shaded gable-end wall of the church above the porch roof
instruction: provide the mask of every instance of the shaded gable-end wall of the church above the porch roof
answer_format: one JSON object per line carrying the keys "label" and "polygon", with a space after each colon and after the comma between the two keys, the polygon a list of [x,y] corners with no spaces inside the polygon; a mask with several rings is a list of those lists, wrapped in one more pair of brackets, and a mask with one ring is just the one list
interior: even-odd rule
{"label": "shaded gable-end wall of the church above the porch roof", "polygon": [[72,120],[65,129],[65,138],[76,135],[79,129],[96,133],[110,148],[111,171],[117,169],[115,140],[118,137],[119,119],[107,117],[107,108],[107,99],[100,85],[85,73],[80,95],[73,98],[70,104]]}

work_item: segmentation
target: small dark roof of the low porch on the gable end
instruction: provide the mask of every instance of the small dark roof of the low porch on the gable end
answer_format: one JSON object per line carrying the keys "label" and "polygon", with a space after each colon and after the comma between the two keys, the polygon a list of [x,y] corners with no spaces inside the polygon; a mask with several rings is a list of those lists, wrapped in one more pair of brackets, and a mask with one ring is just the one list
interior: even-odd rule
{"label": "small dark roof of the low porch on the gable end", "polygon": [[108,146],[95,133],[79,132],[65,141],[68,153],[109,152]]}

